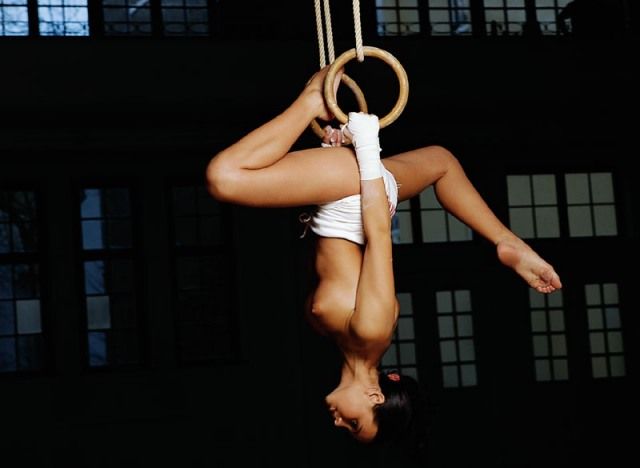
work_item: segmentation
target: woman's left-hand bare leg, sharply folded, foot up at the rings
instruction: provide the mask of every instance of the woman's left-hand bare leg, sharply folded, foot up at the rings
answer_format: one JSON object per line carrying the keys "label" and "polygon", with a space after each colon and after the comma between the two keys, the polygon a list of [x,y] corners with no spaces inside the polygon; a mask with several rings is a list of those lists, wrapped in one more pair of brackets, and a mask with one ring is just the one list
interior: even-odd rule
{"label": "woman's left-hand bare leg, sharply folded, foot up at the rings", "polygon": [[318,147],[289,152],[313,119],[330,120],[322,92],[325,75],[326,68],[312,77],[281,114],[211,160],[206,178],[215,198],[248,206],[288,207],[325,203],[359,192],[352,149]]}

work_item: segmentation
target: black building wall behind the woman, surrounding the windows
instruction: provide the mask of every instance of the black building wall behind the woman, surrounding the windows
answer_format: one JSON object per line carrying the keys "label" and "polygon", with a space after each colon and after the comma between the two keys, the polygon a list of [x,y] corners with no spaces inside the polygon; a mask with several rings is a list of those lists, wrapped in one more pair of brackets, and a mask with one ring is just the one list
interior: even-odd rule
{"label": "black building wall behind the woman, surrounding the windows", "polygon": [[[51,342],[47,372],[0,376],[3,466],[405,464],[400,455],[336,434],[325,414],[322,397],[339,361],[301,314],[310,244],[298,239],[300,210],[230,207],[240,348],[224,362],[176,361],[168,202],[160,196],[166,181],[203,181],[218,150],[283,110],[318,67],[308,5],[226,3],[224,34],[216,39],[0,38],[0,184],[44,194]],[[348,9],[334,11],[349,18],[336,28],[336,50],[343,51],[353,47],[351,17]],[[497,264],[490,245],[477,239],[397,247],[398,290],[413,292],[416,310],[424,311],[416,317],[420,370],[436,408],[429,465],[624,466],[634,455],[633,426],[626,424],[637,408],[637,275],[630,260],[638,253],[640,202],[633,170],[637,39],[365,38],[392,52],[410,81],[405,111],[381,134],[387,155],[447,146],[503,220],[505,174],[603,170],[616,181],[619,236],[532,242],[563,277],[574,325],[570,353],[584,358],[572,364],[567,382],[531,381],[528,318],[519,308],[527,290]],[[367,60],[351,73],[371,111],[394,102],[384,66]],[[308,132],[297,146],[316,144]],[[71,208],[80,180],[126,180],[140,189],[142,368],[82,366]],[[581,328],[581,285],[590,281],[620,286],[625,378],[591,378]],[[458,284],[474,288],[483,379],[447,390],[427,311],[433,291]]]}

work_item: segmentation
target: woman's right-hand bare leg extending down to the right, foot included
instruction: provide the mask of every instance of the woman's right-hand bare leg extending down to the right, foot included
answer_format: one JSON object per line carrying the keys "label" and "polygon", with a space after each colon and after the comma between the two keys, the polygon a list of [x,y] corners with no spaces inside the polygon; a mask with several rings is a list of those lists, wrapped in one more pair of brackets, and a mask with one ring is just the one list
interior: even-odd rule
{"label": "woman's right-hand bare leg extending down to the right, foot included", "polygon": [[507,228],[467,178],[458,160],[445,148],[430,146],[383,159],[407,200],[434,185],[442,206],[496,245],[499,260],[542,293],[562,287],[554,268]]}

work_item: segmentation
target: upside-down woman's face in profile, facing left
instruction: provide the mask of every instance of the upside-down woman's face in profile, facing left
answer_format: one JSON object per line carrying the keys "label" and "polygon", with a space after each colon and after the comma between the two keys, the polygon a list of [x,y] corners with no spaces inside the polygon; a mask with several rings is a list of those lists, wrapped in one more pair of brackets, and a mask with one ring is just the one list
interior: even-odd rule
{"label": "upside-down woman's face in profile, facing left", "polygon": [[378,432],[373,408],[381,403],[379,395],[353,384],[338,387],[327,395],[325,402],[336,427],[346,429],[360,442],[371,442]]}

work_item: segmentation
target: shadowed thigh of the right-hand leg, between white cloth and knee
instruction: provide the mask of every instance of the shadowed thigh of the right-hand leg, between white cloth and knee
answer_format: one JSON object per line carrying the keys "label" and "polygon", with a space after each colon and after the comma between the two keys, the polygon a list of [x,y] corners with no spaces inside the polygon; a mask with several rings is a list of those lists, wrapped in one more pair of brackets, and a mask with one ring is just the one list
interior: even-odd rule
{"label": "shadowed thigh of the right-hand leg, between white cloth and knee", "polygon": [[433,185],[455,161],[453,155],[441,146],[427,146],[382,160],[398,183],[398,199],[408,200]]}

